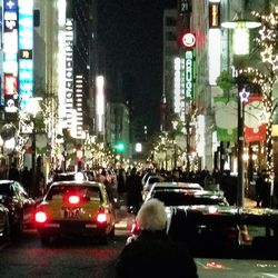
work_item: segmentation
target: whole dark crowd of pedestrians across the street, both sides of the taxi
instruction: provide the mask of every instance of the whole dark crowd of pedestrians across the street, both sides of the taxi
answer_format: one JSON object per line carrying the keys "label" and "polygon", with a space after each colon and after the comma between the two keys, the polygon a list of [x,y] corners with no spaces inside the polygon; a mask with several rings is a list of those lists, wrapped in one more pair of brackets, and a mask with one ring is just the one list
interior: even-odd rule
{"label": "whole dark crowd of pedestrians across the street, both sides of the taxi", "polygon": [[[108,175],[103,170],[98,172],[96,180],[101,181],[107,186],[108,193],[111,200],[117,200],[118,205],[132,208],[138,211],[142,203],[142,190],[149,176],[159,177],[160,181],[183,181],[197,182],[203,187],[205,190],[222,190],[230,205],[236,205],[237,201],[237,177],[230,175],[229,170],[220,172],[218,169],[212,171],[206,168],[198,171],[183,171],[181,168],[175,168],[171,171],[156,168],[127,168],[120,167],[111,171],[113,175]],[[31,192],[32,187],[32,169],[24,167],[22,170],[17,168],[14,162],[6,171],[0,171],[1,179],[13,179],[22,183],[29,193],[36,193],[34,197],[41,196],[47,190],[46,179],[43,175],[37,175],[36,181],[37,192]],[[272,196],[270,196],[270,185],[266,181],[266,171],[257,173],[254,198],[257,201],[257,207],[277,207],[276,187],[274,186]]]}

